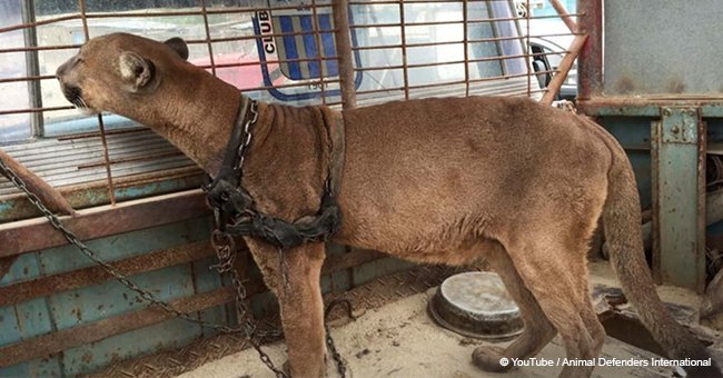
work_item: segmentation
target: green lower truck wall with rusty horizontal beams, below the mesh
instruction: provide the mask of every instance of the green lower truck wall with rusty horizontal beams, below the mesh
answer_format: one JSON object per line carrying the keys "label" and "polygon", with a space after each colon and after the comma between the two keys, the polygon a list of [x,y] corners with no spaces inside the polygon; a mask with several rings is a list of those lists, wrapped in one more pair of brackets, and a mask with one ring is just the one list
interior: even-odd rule
{"label": "green lower truck wall with rusty horizontal beams, below the mesh", "polygon": [[[204,319],[232,322],[228,304],[234,292],[209,269],[215,257],[208,215],[202,193],[192,190],[80,210],[66,222],[101,258],[159,298]],[[148,307],[56,237],[44,219],[0,225],[0,262],[10,261],[0,275],[0,377],[75,376],[214,335]],[[324,292],[412,266],[337,245],[327,255]],[[249,270],[247,294],[255,312],[276,312],[258,269],[246,265],[241,270]]]}

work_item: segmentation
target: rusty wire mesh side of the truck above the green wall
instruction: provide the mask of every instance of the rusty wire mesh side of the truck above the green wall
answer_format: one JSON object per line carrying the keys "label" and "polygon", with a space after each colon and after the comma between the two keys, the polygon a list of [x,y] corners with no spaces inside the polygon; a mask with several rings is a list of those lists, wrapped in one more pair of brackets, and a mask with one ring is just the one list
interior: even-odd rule
{"label": "rusty wire mesh side of the truck above the green wall", "polygon": [[[539,98],[574,37],[542,0],[353,0],[341,26],[350,36],[345,51],[337,50],[329,0],[7,0],[0,8],[0,143],[52,186],[95,188],[78,207],[178,190],[186,183],[143,185],[169,175],[192,186],[198,180],[188,177],[199,173],[141,125],[85,117],[67,102],[53,72],[89,38],[182,37],[191,63],[252,98],[338,107],[339,57],[351,60],[346,90],[357,106],[429,96]],[[563,86],[564,96],[574,91],[574,82]],[[0,196],[14,193],[0,179]]]}

